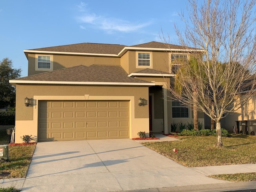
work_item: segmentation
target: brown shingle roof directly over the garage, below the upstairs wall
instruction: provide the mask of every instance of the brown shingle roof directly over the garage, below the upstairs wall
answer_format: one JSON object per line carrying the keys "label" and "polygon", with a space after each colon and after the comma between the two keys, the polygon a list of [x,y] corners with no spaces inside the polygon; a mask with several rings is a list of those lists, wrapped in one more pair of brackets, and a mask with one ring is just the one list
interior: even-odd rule
{"label": "brown shingle roof directly over the garage, below the upstairs wall", "polygon": [[120,82],[120,83],[149,83],[128,77],[121,66],[92,65],[74,66],[51,72],[45,72],[15,80],[50,81],[50,82]]}

